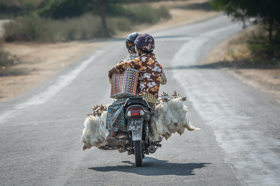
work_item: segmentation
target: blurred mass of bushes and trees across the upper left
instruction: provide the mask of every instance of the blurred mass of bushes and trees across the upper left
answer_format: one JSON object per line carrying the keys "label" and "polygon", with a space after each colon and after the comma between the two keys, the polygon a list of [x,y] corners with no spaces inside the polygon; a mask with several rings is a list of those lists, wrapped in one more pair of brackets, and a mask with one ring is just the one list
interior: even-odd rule
{"label": "blurred mass of bushes and trees across the upper left", "polygon": [[[141,3],[139,3],[141,2]],[[168,19],[165,7],[140,0],[0,0],[5,41],[58,42],[111,37],[138,24]],[[133,7],[133,8],[132,8]]]}

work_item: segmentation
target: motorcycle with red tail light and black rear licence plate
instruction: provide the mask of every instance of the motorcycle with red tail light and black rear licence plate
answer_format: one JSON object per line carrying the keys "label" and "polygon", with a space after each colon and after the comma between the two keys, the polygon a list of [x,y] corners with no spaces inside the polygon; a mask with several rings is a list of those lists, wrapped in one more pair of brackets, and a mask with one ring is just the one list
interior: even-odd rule
{"label": "motorcycle with red tail light and black rear licence plate", "polygon": [[124,111],[129,132],[124,148],[128,155],[135,155],[136,167],[142,167],[145,155],[153,154],[161,147],[160,141],[152,142],[148,138],[152,108],[142,97],[129,97],[124,104]]}

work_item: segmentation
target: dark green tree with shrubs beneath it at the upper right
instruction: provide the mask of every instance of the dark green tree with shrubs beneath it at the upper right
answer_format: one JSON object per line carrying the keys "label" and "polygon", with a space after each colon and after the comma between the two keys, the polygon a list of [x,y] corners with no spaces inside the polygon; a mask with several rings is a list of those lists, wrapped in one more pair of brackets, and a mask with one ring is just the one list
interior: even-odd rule
{"label": "dark green tree with shrubs beneath it at the upper right", "polygon": [[250,39],[248,49],[257,55],[280,57],[280,1],[279,0],[212,0],[215,10],[224,11],[244,27],[258,24]]}

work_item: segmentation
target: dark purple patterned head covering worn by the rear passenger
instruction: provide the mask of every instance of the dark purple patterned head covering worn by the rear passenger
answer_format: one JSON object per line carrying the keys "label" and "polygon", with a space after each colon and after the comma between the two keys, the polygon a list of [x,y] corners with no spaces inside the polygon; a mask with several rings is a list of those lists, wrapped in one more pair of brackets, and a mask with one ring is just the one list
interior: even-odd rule
{"label": "dark purple patterned head covering worn by the rear passenger", "polygon": [[154,38],[150,34],[140,34],[134,44],[142,50],[150,51],[154,49]]}

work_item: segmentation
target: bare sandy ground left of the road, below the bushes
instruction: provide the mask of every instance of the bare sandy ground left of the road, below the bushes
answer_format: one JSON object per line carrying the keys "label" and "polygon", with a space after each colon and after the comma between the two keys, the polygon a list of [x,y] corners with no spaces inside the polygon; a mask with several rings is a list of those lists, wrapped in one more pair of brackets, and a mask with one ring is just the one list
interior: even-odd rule
{"label": "bare sandy ground left of the road, below the bushes", "polygon": [[82,56],[105,46],[106,42],[57,44],[18,43],[5,44],[11,58],[19,64],[2,71],[0,76],[0,101],[14,98],[54,76],[56,72]]}

